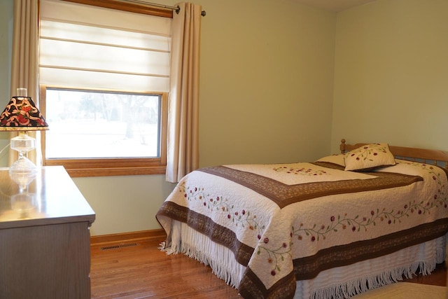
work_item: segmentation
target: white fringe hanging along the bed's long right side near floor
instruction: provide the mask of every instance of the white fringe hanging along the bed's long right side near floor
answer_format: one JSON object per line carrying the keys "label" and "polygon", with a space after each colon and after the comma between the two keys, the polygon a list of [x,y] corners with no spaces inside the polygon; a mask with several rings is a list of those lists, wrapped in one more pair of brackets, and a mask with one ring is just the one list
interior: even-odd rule
{"label": "white fringe hanging along the bed's long right side near floor", "polygon": [[350,298],[359,293],[398,282],[403,279],[403,276],[412,278],[417,270],[420,270],[420,274],[423,275],[430,274],[430,272],[433,272],[436,265],[442,263],[444,260],[445,249],[437,249],[434,260],[414,263],[408,267],[399,267],[380,274],[372,274],[367,277],[346,281],[344,284],[338,284],[328,288],[320,288],[311,294],[311,298]]}

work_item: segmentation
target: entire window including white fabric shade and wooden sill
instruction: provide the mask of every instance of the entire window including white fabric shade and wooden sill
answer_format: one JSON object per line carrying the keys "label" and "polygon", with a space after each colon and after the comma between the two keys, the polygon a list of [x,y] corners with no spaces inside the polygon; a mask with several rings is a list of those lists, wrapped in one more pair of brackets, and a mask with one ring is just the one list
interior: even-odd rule
{"label": "entire window including white fabric shade and wooden sill", "polygon": [[44,165],[165,174],[171,19],[42,0]]}

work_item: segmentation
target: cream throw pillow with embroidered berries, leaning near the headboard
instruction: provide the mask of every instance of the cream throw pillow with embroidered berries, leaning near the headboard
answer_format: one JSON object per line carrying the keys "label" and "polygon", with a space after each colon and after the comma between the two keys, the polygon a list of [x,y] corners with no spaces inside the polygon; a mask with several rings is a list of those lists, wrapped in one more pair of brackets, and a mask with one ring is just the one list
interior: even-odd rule
{"label": "cream throw pillow with embroidered berries, leaning near the headboard", "polygon": [[388,144],[366,144],[344,156],[345,170],[370,171],[377,167],[395,165]]}

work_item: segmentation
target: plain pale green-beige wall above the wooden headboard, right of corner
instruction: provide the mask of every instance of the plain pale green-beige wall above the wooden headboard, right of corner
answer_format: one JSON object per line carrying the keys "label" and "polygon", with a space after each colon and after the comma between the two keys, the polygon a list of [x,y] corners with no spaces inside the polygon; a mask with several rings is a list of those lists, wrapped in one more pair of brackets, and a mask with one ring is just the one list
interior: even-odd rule
{"label": "plain pale green-beige wall above the wooden headboard, right of corner", "polygon": [[332,150],[347,141],[448,150],[448,1],[338,13]]}

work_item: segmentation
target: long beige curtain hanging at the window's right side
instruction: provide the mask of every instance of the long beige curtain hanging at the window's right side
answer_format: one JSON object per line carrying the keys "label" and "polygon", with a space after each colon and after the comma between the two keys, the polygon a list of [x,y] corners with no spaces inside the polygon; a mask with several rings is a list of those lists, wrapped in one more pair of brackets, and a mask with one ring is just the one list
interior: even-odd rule
{"label": "long beige curtain hanging at the window's right side", "polygon": [[176,183],[199,167],[199,69],[202,7],[177,4],[172,22],[167,174]]}

